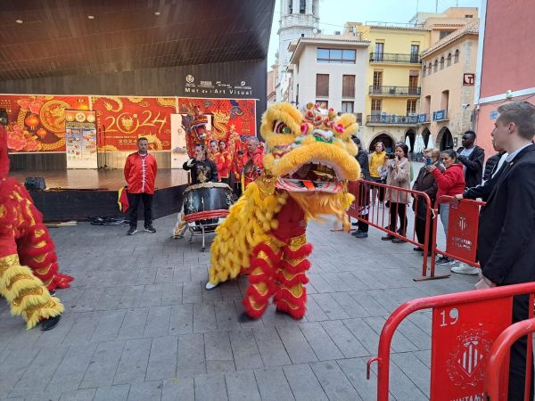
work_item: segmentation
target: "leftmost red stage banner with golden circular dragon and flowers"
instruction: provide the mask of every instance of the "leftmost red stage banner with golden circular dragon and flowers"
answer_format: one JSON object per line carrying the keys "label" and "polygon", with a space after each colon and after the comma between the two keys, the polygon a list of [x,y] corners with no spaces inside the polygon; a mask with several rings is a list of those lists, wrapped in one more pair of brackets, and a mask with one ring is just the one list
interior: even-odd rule
{"label": "leftmost red stage banner with golden circular dragon and flowers", "polygon": [[7,147],[10,152],[64,152],[64,110],[89,110],[87,96],[0,94],[7,111]]}

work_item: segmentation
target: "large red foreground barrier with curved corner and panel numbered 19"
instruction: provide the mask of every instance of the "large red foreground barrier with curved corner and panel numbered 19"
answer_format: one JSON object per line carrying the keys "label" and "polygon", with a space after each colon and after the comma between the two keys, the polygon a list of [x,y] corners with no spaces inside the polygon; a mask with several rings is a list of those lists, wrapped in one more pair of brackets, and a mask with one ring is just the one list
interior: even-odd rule
{"label": "large red foreground barrier with curved corner and panel numbered 19", "polygon": [[[432,308],[432,400],[483,399],[483,372],[490,345],[511,324],[513,296],[532,294],[535,282],[465,291],[407,301],[384,323],[379,339],[377,400],[389,399],[391,340],[399,323],[416,311]],[[499,313],[497,313],[499,311]],[[509,311],[509,312],[507,312]],[[530,316],[533,311],[530,311]],[[480,397],[480,398],[477,398]]]}

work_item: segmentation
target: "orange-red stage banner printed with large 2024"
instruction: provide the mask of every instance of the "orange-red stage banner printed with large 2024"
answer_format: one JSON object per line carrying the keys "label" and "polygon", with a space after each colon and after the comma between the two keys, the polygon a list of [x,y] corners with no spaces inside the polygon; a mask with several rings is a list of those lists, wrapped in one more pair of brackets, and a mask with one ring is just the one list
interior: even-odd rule
{"label": "orange-red stage banner printed with large 2024", "polygon": [[91,96],[99,129],[99,151],[136,151],[144,136],[152,151],[171,149],[174,97]]}

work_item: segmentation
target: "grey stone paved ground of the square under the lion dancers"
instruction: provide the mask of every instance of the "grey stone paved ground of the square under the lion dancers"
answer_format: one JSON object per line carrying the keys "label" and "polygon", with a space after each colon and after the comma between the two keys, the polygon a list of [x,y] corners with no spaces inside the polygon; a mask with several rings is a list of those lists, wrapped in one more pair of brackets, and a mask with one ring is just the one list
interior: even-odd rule
{"label": "grey stone paved ground of the square under the lion dancers", "polygon": [[[53,229],[66,313],[53,331],[25,331],[0,304],[0,398],[11,400],[320,400],[375,397],[366,359],[385,318],[407,299],[469,290],[476,278],[414,282],[412,245],[366,240],[311,224],[309,310],[300,322],[273,307],[242,321],[246,282],[204,291],[210,253],[127,228]],[[446,270],[438,267],[439,273]],[[426,399],[431,319],[411,315],[392,344],[392,399]]]}

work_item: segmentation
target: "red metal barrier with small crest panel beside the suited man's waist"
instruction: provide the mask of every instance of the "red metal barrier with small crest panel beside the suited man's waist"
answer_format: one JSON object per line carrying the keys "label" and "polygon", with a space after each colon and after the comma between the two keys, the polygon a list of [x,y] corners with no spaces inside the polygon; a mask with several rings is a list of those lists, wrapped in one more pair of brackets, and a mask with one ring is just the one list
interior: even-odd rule
{"label": "red metal barrier with small crest panel beside the suited man's waist", "polygon": [[[439,216],[440,203],[445,202],[449,202],[446,250],[439,250],[437,241],[432,244],[431,275],[434,275],[437,254],[459,260],[466,265],[479,267],[479,263],[476,261],[477,231],[480,208],[485,205],[485,202],[472,200],[453,201],[452,196],[440,196],[435,201],[434,209],[432,210],[435,216]],[[434,218],[432,230],[435,239],[437,238],[437,227],[438,218]]]}

